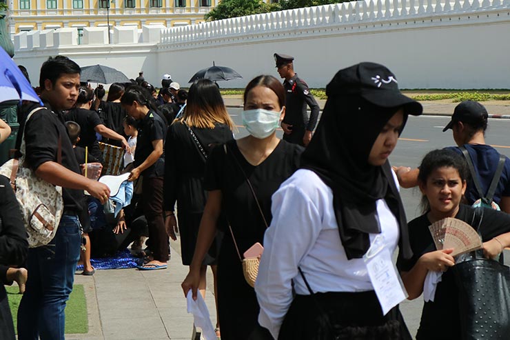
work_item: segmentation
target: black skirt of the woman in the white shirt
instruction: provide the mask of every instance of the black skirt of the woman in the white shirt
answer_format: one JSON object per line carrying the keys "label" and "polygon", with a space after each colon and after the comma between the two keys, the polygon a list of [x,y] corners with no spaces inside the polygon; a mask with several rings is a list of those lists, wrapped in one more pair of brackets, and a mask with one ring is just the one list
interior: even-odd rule
{"label": "black skirt of the woman in the white shirt", "polygon": [[411,340],[398,306],[386,315],[374,291],[296,295],[278,340]]}

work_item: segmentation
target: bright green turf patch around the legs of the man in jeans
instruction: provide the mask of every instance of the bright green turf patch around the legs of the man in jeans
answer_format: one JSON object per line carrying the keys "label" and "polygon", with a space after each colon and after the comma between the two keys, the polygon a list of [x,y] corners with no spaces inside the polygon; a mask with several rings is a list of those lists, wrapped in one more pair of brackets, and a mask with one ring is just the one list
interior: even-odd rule
{"label": "bright green turf patch around the legs of the man in jeans", "polygon": [[[10,312],[14,320],[14,329],[17,325],[19,302],[23,295],[18,294],[18,287],[6,287],[9,299]],[[74,285],[67,305],[65,306],[65,333],[88,333],[87,302],[83,285]]]}

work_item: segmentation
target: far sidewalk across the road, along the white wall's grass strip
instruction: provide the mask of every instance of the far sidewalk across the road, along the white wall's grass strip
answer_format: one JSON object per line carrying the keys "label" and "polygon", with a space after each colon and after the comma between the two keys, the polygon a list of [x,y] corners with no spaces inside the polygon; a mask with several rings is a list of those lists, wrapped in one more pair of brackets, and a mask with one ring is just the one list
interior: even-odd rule
{"label": "far sidewalk across the road, along the white wall's grass strip", "polygon": [[[223,96],[225,106],[229,108],[242,108],[243,98],[241,95],[227,95]],[[323,110],[326,103],[323,99],[318,99],[317,103],[320,110]],[[458,103],[450,103],[447,100],[440,101],[420,101],[423,106],[423,114],[437,115],[437,116],[451,116],[453,109]],[[483,106],[489,113],[489,118],[504,118],[510,119],[510,101],[481,101]]]}

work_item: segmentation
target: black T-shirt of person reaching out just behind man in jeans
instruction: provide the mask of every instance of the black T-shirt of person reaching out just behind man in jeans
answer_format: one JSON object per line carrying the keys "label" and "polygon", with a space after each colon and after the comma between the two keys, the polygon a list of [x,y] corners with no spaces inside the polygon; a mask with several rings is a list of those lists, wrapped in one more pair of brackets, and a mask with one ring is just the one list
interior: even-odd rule
{"label": "black T-shirt of person reaching out just behind man in jeans", "polygon": [[83,108],[74,108],[65,114],[65,121],[74,121],[81,128],[80,140],[76,146],[82,148],[88,147],[89,154],[96,159],[103,161],[103,154],[99,149],[99,142],[96,139],[96,126],[103,124],[97,112],[85,110]]}

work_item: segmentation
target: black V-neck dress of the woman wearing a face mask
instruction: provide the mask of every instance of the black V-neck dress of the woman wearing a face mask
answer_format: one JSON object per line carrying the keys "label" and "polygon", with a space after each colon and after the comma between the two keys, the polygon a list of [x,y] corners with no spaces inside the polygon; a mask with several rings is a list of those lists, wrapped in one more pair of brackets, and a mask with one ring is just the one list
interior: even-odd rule
{"label": "black V-neck dress of the woman wearing a face mask", "polygon": [[[223,146],[212,150],[207,162],[205,188],[221,190],[222,211],[232,226],[241,256],[254,243],[263,243],[265,225],[239,166],[249,177],[265,219],[270,223],[272,194],[298,168],[301,152],[302,147],[280,141],[265,161],[252,166],[239,151],[236,141],[227,143],[227,154]],[[259,310],[255,290],[243,277],[230,230],[225,230],[218,259],[218,314],[222,339],[249,339],[254,329],[260,327]]]}

